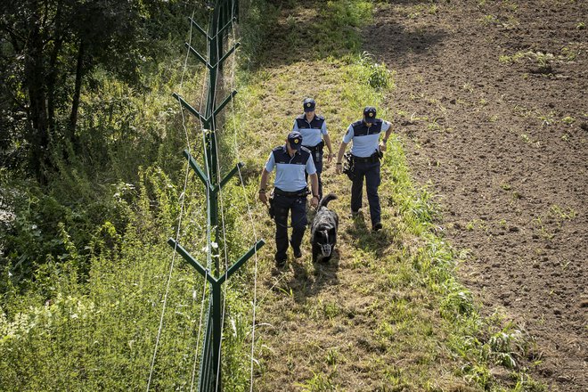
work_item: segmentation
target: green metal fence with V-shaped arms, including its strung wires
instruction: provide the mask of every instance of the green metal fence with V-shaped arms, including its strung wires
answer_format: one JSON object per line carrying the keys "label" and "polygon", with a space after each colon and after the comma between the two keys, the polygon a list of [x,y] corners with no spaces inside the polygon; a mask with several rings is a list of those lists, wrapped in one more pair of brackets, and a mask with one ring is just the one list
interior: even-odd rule
{"label": "green metal fence with V-shaped arms, including its strung wires", "polygon": [[[208,31],[202,29],[198,22],[194,20],[193,13],[192,17],[189,18],[191,21],[191,33],[190,39],[188,40],[185,45],[187,47],[188,53],[192,53],[192,55],[200,62],[202,62],[205,66],[207,76],[208,76],[208,84],[206,86],[206,99],[204,96],[200,102],[206,102],[204,110],[200,108],[200,110],[196,110],[190,103],[188,103],[184,97],[180,94],[174,93],[173,96],[179,102],[183,110],[186,110],[192,116],[197,118],[200,121],[200,128],[201,128],[201,135],[203,138],[203,148],[204,148],[204,170],[200,167],[197,159],[192,156],[192,152],[189,150],[184,151],[184,157],[188,161],[188,166],[192,168],[195,172],[196,176],[199,177],[200,182],[206,189],[207,195],[207,263],[206,266],[200,265],[200,263],[192,257],[192,255],[188,252],[188,250],[184,249],[184,247],[179,243],[179,240],[176,236],[176,239],[169,239],[167,243],[175,250],[175,253],[178,253],[181,257],[184,258],[186,262],[192,265],[204,278],[205,289],[208,285],[208,310],[206,311],[206,331],[204,334],[204,342],[202,347],[202,354],[200,356],[200,376],[198,379],[198,390],[200,392],[208,392],[208,391],[219,391],[222,390],[222,375],[221,375],[221,344],[222,344],[222,331],[223,325],[225,322],[225,293],[223,292],[222,287],[223,283],[225,283],[232,274],[234,274],[240,267],[243,265],[250,257],[255,256],[256,260],[256,272],[257,272],[257,250],[260,249],[264,244],[264,240],[257,240],[257,233],[254,232],[255,235],[255,244],[249,249],[247,253],[241,256],[237,261],[230,265],[228,262],[228,252],[227,252],[227,245],[225,241],[225,216],[223,213],[223,188],[225,184],[236,174],[239,175],[241,178],[242,183],[242,176],[241,176],[241,167],[243,164],[241,162],[237,163],[233,169],[224,177],[220,176],[220,165],[219,162],[221,161],[219,157],[219,151],[217,146],[217,127],[218,123],[216,121],[216,117],[220,114],[220,112],[225,108],[225,106],[231,102],[233,105],[233,97],[237,94],[236,90],[231,91],[225,99],[217,103],[217,94],[221,92],[220,82],[223,78],[223,69],[225,61],[234,53],[234,51],[239,47],[239,43],[236,42],[235,35],[234,35],[234,26],[238,20],[239,14],[239,2],[238,0],[216,0],[214,4],[208,4],[208,10],[210,12],[208,18]],[[192,47],[192,30],[198,31],[207,42],[207,55],[206,57],[203,56],[198,52],[197,49]],[[231,36],[232,34],[232,36]],[[229,43],[229,37],[233,37],[232,45],[228,50],[225,51],[225,45]],[[231,77],[234,78],[234,61],[232,63],[232,75]],[[185,64],[184,64],[185,67]],[[233,79],[232,79],[233,81]],[[204,94],[203,94],[204,95]],[[234,108],[233,108],[234,112]],[[184,113],[184,111],[183,111]],[[184,114],[183,114],[184,120]],[[233,131],[236,132],[234,129],[233,124]],[[189,138],[186,135],[186,140],[189,143]],[[223,159],[225,160],[225,159]],[[185,191],[185,190],[184,190]],[[220,202],[220,208],[219,208]],[[249,200],[247,201],[248,213],[249,217],[252,220],[251,210],[249,207]],[[220,211],[220,222],[219,222],[219,211]],[[179,225],[178,225],[179,227]],[[223,244],[223,248],[225,250],[225,265],[221,268],[220,265],[220,251],[219,251],[219,244]],[[214,261],[214,267],[213,267]],[[229,266],[230,265],[230,266]],[[171,275],[171,268],[170,267],[170,275]],[[224,270],[221,273],[221,270]],[[256,273],[257,274],[257,273]],[[167,282],[167,285],[169,283]],[[257,290],[257,289],[256,289]],[[255,297],[255,294],[254,294]],[[202,300],[202,304],[204,304],[204,298]],[[254,301],[254,309],[253,314],[255,317],[255,301]],[[162,312],[165,312],[165,304],[164,309]],[[204,309],[202,308],[200,314],[200,320],[202,320],[202,314],[204,314]],[[163,315],[161,317],[163,320]],[[161,330],[161,321],[159,323],[159,332]],[[252,328],[255,329],[255,318],[252,323]],[[199,341],[200,341],[200,330],[201,330],[201,323],[199,327]],[[158,337],[159,337],[158,332]],[[252,335],[254,335],[254,331]],[[157,339],[159,340],[159,338]],[[156,342],[157,342],[156,340]],[[253,374],[252,366],[253,366],[253,344],[251,347],[251,375]],[[197,347],[198,349],[198,347]],[[157,355],[157,343],[154,350],[153,358],[151,361],[151,372],[150,372],[150,380],[148,382],[147,389],[149,390],[151,385],[151,376],[152,376],[152,368],[153,363],[155,363],[155,358]],[[192,386],[194,384],[194,373],[197,361],[197,355],[194,357],[194,365],[192,369]],[[252,376],[251,376],[252,377]],[[251,380],[251,388],[253,386],[253,380]]]}

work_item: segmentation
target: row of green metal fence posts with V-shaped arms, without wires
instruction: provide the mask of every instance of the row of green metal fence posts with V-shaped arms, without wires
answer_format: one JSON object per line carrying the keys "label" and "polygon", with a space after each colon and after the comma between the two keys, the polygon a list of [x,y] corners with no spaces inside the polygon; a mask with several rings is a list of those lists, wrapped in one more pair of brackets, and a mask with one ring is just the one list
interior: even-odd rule
{"label": "row of green metal fence posts with V-shaped arms, without wires", "polygon": [[[184,151],[184,157],[188,159],[190,167],[196,172],[200,181],[207,189],[208,198],[208,225],[215,229],[215,240],[218,243],[220,239],[220,227],[218,225],[218,192],[225,186],[225,184],[243,167],[243,163],[238,163],[233,169],[219,181],[218,159],[216,156],[216,115],[225,108],[225,105],[230,102],[234,95],[233,91],[229,94],[220,105],[216,106],[216,82],[218,80],[219,71],[222,69],[223,63],[231,55],[234,50],[239,47],[239,43],[235,43],[233,47],[223,54],[223,39],[226,31],[232,28],[233,21],[236,18],[230,18],[229,15],[232,10],[238,10],[237,0],[216,0],[212,15],[209,20],[208,32],[200,28],[195,20],[191,20],[200,34],[207,39],[208,43],[208,59],[202,56],[191,45],[187,44],[189,51],[196,56],[208,69],[208,96],[206,103],[206,110],[201,114],[195,110],[192,105],[184,100],[179,94],[173,96],[180,102],[180,104],[192,113],[193,116],[200,119],[203,127],[205,159],[207,162],[208,172],[205,173],[189,151]],[[253,256],[258,249],[260,249],[265,241],[260,240],[249,249],[249,251],[237,260],[231,267],[229,267],[225,274],[220,273],[219,257],[215,255],[215,268],[212,273],[208,268],[200,265],[179,243],[173,239],[169,239],[167,243],[172,246],[176,252],[180,253],[184,259],[191,264],[209,283],[211,286],[210,299],[208,303],[208,323],[205,335],[205,343],[203,348],[202,360],[200,361],[200,392],[218,391],[222,390],[221,384],[221,341],[223,333],[222,325],[222,284],[234,274],[240,267]],[[208,251],[212,251],[212,241],[208,238]]]}

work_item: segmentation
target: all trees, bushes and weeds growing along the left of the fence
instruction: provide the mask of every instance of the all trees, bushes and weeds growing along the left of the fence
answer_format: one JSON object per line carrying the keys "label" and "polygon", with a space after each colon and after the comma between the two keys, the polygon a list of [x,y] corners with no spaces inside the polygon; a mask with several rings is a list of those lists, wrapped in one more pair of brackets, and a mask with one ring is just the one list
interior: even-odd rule
{"label": "all trees, bushes and weeds growing along the left of the fence", "polygon": [[[152,388],[192,384],[205,288],[189,266],[174,270],[160,337],[158,320],[167,238],[182,222],[195,254],[206,248],[206,195],[178,185],[192,127],[170,93],[200,96],[202,66],[183,69],[183,41],[186,16],[206,26],[209,12],[173,0],[0,4],[0,390],[144,389],[159,338]],[[229,257],[249,249],[227,233]],[[248,348],[240,320],[229,353]],[[244,385],[246,358],[231,362],[228,389]]]}

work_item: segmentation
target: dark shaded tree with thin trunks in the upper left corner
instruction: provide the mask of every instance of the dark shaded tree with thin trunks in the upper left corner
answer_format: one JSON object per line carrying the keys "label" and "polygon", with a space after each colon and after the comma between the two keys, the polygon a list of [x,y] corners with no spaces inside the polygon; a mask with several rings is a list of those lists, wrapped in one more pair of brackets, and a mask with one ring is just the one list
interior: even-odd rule
{"label": "dark shaded tree with thin trunks in the upper left corner", "polygon": [[[22,136],[29,168],[44,183],[51,151],[61,142],[77,150],[76,127],[86,76],[98,66],[139,83],[138,64],[162,16],[180,11],[165,0],[8,0],[0,4],[0,110],[13,138]],[[21,127],[6,113],[25,113]],[[2,142],[6,144],[6,141]],[[2,144],[0,144],[2,145]]]}

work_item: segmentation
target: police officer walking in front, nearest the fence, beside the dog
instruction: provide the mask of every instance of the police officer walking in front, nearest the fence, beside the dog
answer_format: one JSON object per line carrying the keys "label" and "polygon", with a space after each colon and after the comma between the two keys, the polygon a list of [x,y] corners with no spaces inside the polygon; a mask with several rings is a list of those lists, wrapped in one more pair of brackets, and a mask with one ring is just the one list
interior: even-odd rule
{"label": "police officer walking in front, nearest the fence, beside the dog", "polygon": [[286,144],[274,148],[270,153],[261,173],[259,184],[259,200],[267,204],[265,185],[267,177],[274,170],[274,221],[275,221],[275,263],[282,266],[286,263],[288,250],[288,213],[291,211],[290,225],[292,235],[290,245],[294,257],[302,257],[300,244],[306,230],[306,187],[305,172],[310,175],[313,198],[310,203],[318,206],[318,178],[310,151],[302,146],[303,137],[298,131],[292,131],[286,138]]}

